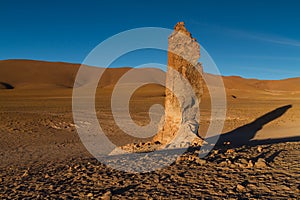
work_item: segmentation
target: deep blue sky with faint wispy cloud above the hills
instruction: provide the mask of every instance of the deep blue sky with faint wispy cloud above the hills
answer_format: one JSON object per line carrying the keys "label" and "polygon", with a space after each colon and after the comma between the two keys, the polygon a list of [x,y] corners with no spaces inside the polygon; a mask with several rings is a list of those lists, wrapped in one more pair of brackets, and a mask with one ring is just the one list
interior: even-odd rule
{"label": "deep blue sky with faint wispy cloud above the hills", "polygon": [[[184,21],[223,75],[299,77],[299,10],[297,0],[2,0],[0,59],[81,63],[96,45],[121,31],[173,28]],[[138,57],[118,64],[135,65],[142,62]]]}

